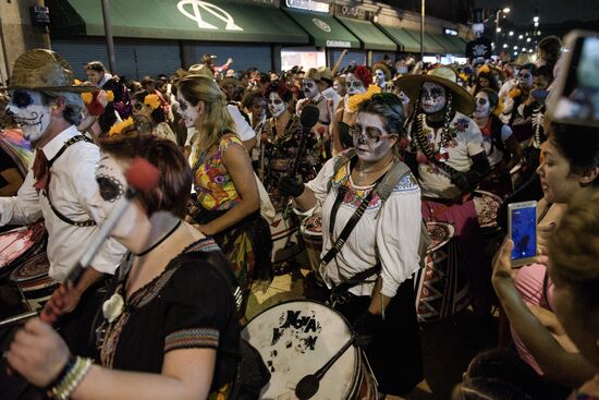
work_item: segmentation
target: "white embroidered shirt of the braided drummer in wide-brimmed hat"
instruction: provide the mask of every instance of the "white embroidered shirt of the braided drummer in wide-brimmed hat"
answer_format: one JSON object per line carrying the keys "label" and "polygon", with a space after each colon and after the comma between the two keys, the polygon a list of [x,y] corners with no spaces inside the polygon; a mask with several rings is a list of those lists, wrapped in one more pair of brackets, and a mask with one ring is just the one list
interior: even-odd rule
{"label": "white embroidered shirt of the braided drummer in wide-brimmed hat", "polygon": [[[417,123],[417,121],[413,123]],[[426,118],[424,118],[423,131],[428,142],[432,143],[436,151],[439,149],[442,130],[442,128],[437,130],[429,128]],[[455,132],[455,137],[445,148],[449,155],[445,163],[457,171],[466,172],[470,169],[472,157],[485,150],[482,148],[482,133],[472,118],[457,111],[450,123],[450,130]],[[415,141],[414,137],[411,140],[412,142]],[[418,153],[421,153],[420,149],[418,149]],[[462,193],[456,185],[451,183],[449,174],[433,161],[428,160],[418,163],[418,174],[423,196],[455,198]]]}

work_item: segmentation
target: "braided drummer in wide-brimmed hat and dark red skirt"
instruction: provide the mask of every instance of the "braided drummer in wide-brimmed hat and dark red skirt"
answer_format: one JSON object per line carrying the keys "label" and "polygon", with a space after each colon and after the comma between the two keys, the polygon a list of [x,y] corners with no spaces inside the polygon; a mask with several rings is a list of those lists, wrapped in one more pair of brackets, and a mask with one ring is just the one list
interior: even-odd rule
{"label": "braided drummer in wide-brimmed hat and dark red skirt", "polygon": [[406,162],[417,174],[425,220],[453,223],[469,275],[475,311],[490,311],[490,265],[481,252],[480,227],[470,192],[489,172],[480,129],[467,114],[469,93],[456,74],[438,68],[427,75],[402,76],[396,85],[414,102]]}

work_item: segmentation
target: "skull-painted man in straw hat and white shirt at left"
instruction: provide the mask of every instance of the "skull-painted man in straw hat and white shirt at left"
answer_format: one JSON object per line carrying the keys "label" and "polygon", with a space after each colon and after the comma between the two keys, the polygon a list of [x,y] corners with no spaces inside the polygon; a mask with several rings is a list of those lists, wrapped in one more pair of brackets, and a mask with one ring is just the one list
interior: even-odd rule
{"label": "skull-painted man in straw hat and white shirt at left", "polygon": [[[58,281],[89,247],[98,231],[96,223],[107,215],[95,175],[99,149],[76,129],[85,107],[78,93],[86,88],[72,82],[69,64],[53,51],[34,49],[16,59],[8,111],[32,142],[36,160],[16,196],[0,198],[0,225],[32,223],[44,217],[49,275]],[[69,291],[64,307],[52,308],[64,289],[49,301],[47,307],[56,313],[72,311],[78,302],[77,312],[63,326],[72,348],[86,351],[87,337],[82,332],[88,331],[99,305],[99,296],[93,299],[95,291],[87,289],[99,284],[105,274],[113,274],[123,254],[124,247],[108,240],[78,286]]]}

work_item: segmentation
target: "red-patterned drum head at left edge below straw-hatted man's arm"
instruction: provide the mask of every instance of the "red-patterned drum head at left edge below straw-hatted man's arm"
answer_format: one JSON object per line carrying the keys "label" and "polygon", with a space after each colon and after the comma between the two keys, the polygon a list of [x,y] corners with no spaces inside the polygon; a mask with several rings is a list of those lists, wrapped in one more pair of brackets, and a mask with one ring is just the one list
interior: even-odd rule
{"label": "red-patterned drum head at left edge below straw-hatted man's arm", "polygon": [[0,269],[14,265],[29,251],[40,247],[45,239],[44,222],[16,228],[0,234]]}

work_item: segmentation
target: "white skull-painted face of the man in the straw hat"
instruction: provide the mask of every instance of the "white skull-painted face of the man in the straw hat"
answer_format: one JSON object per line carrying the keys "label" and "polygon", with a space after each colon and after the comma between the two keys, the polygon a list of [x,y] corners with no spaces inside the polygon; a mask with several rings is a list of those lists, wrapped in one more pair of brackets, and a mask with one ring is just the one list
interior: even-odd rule
{"label": "white skull-painted face of the man in the straw hat", "polygon": [[13,90],[7,110],[14,116],[14,121],[21,125],[27,141],[39,140],[50,125],[50,106],[42,104],[39,92]]}

